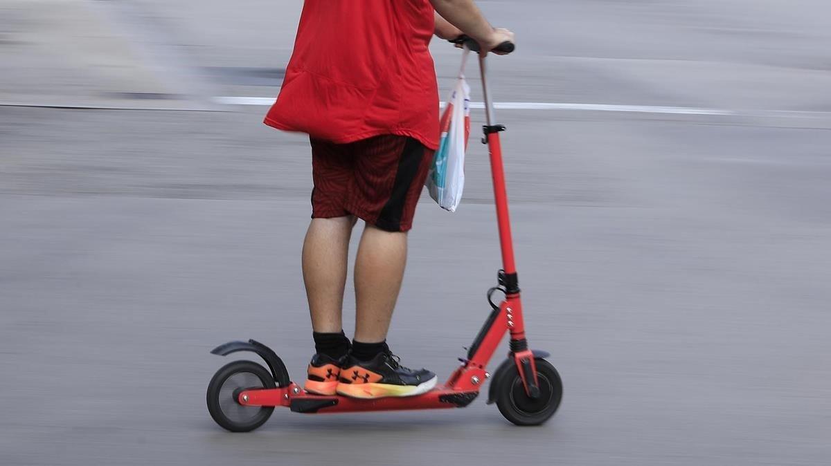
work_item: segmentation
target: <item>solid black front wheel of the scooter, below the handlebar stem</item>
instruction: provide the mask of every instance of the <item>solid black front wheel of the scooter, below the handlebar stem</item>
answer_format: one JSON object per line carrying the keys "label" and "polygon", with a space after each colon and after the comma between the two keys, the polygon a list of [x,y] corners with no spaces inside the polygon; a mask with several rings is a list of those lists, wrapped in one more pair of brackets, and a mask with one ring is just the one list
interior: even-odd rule
{"label": "solid black front wheel of the scooter, below the handlebar stem", "polygon": [[504,372],[494,383],[499,384],[496,391],[496,406],[505,419],[515,425],[541,425],[557,412],[563,400],[563,381],[557,369],[550,362],[535,358],[540,396],[532,400],[525,393],[522,379],[516,365]]}

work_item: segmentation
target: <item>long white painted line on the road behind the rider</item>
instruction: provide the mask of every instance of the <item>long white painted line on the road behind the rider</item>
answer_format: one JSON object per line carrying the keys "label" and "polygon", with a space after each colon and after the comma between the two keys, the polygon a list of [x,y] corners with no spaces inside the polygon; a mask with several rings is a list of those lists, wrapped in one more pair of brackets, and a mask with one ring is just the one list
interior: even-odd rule
{"label": "long white painted line on the road behind the rider", "polygon": [[[224,105],[271,105],[273,97],[214,97]],[[505,110],[584,110],[594,112],[635,112],[642,114],[733,115],[731,110],[696,109],[693,107],[659,107],[652,105],[568,104],[559,102],[496,102],[496,109]],[[483,102],[471,102],[471,109],[484,109]]]}

